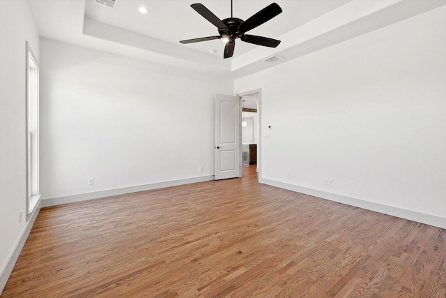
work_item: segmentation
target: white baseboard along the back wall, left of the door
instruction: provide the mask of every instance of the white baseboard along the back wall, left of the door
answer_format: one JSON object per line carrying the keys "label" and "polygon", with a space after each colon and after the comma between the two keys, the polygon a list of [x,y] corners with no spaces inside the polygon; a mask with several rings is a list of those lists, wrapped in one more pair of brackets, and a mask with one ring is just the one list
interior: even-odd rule
{"label": "white baseboard along the back wall, left of the door", "polygon": [[112,195],[123,195],[125,193],[137,193],[138,191],[150,191],[151,189],[165,188],[165,187],[170,187],[170,186],[178,186],[178,185],[191,184],[191,183],[197,183],[197,182],[203,182],[203,181],[210,181],[210,180],[214,180],[214,179],[215,179],[214,175],[209,175],[209,176],[201,176],[201,177],[180,179],[180,180],[174,180],[174,181],[164,181],[164,182],[153,183],[153,184],[144,184],[144,185],[123,187],[123,188],[115,188],[115,189],[109,189],[106,191],[95,191],[92,193],[79,193],[77,195],[64,195],[62,197],[56,197],[56,198],[47,198],[47,199],[43,198],[41,200],[41,202],[42,202],[41,206],[42,207],[50,207],[50,206],[67,204],[67,203],[72,203],[72,202],[81,202],[81,201],[85,201],[85,200],[110,197]]}

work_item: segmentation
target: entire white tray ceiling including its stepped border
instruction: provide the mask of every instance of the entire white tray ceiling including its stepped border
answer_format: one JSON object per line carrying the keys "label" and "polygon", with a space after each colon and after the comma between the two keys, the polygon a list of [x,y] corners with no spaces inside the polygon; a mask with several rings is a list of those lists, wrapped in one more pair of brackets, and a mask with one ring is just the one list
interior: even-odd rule
{"label": "entire white tray ceiling including its stepped border", "polygon": [[[190,5],[202,3],[217,17],[231,17],[230,0],[28,0],[41,37],[205,73],[240,77],[277,65],[276,54],[300,57],[323,47],[446,5],[446,0],[275,0],[283,13],[249,31],[282,40],[276,48],[236,40],[223,59],[221,40],[183,45],[179,40],[218,35]],[[273,0],[233,0],[233,17],[248,17]],[[149,13],[143,15],[138,8]],[[211,54],[209,50],[216,52]]]}

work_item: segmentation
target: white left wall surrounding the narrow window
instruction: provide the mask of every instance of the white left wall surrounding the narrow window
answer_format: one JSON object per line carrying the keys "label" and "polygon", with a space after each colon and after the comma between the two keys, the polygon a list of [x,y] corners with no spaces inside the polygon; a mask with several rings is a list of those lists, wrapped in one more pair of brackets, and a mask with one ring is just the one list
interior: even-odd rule
{"label": "white left wall surrounding the narrow window", "polygon": [[26,40],[39,57],[28,3],[0,1],[0,292],[15,247],[26,230]]}

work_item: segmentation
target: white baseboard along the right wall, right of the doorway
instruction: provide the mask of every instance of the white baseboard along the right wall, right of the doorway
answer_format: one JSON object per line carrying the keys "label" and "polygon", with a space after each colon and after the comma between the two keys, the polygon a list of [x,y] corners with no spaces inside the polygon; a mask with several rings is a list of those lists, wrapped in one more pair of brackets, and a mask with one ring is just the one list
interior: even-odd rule
{"label": "white baseboard along the right wall, right of the doorway", "polygon": [[413,210],[402,209],[399,207],[388,206],[385,204],[369,202],[356,198],[350,198],[346,197],[345,195],[337,195],[335,193],[318,191],[316,189],[295,186],[293,184],[286,184],[284,182],[274,181],[270,179],[259,178],[259,183],[284,188],[289,191],[295,191],[296,193],[305,193],[306,195],[313,195],[314,197],[322,198],[325,200],[348,204],[351,206],[360,207],[362,209],[376,211],[391,216],[397,216],[399,218],[405,218],[410,221],[416,221],[417,223],[425,223],[426,225],[433,225],[438,228],[446,229],[446,218],[440,216],[424,214]]}

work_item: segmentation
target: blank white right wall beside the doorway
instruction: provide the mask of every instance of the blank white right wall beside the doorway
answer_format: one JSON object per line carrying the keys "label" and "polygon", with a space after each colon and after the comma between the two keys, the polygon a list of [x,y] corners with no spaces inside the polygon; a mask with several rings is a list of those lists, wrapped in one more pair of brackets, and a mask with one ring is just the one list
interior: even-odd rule
{"label": "blank white right wall beside the doorway", "polygon": [[446,228],[445,37],[443,7],[236,80],[262,89],[264,181]]}

